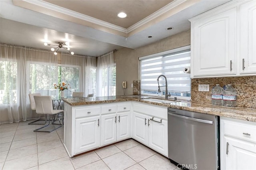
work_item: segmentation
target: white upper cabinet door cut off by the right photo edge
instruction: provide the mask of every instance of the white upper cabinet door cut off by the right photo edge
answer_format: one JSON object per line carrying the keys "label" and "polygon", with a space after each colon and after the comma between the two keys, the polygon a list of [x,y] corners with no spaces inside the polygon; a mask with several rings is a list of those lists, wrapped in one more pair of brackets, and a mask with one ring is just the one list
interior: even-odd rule
{"label": "white upper cabinet door cut off by the right photo edge", "polygon": [[252,0],[240,9],[240,73],[256,73],[256,3]]}

